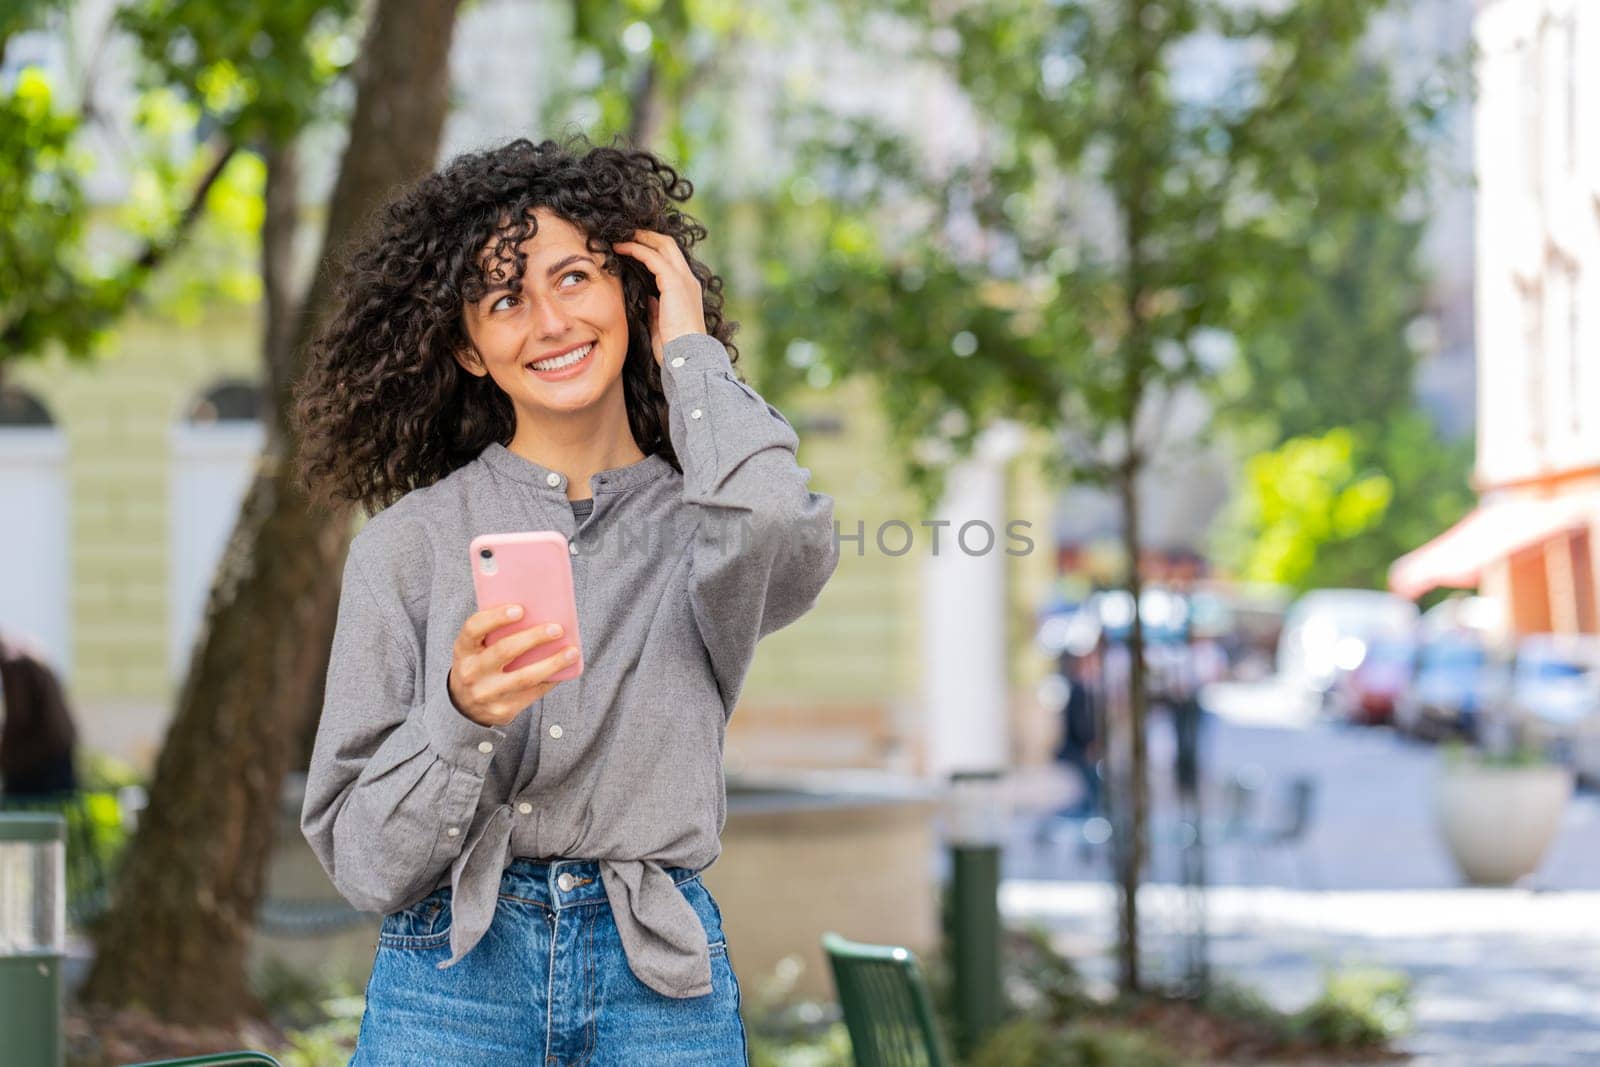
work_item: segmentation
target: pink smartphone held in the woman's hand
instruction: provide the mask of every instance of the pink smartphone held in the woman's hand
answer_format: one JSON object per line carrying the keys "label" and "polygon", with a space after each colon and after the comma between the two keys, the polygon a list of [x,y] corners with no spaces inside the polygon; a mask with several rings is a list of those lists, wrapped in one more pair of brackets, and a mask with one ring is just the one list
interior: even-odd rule
{"label": "pink smartphone held in the woman's hand", "polygon": [[571,645],[578,662],[562,667],[550,681],[566,681],[584,672],[584,645],[578,637],[578,597],[573,593],[573,560],[566,537],[554,530],[515,534],[480,534],[472,539],[472,589],[478,611],[522,605],[522,617],[490,633],[490,643],[530,625],[560,622],[562,635],[534,645],[506,670],[520,670]]}

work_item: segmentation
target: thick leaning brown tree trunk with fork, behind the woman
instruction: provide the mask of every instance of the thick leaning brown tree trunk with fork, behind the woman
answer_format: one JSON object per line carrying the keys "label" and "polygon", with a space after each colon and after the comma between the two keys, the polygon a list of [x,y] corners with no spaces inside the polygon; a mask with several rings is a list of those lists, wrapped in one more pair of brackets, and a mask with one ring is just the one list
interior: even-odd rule
{"label": "thick leaning brown tree trunk with fork, behind the woman", "polygon": [[[328,211],[323,262],[400,182],[435,162],[458,0],[378,0],[355,72],[350,139]],[[269,163],[293,173],[293,157]],[[282,171],[280,171],[282,178]],[[230,1024],[261,1014],[245,971],[283,776],[315,720],[349,547],[344,512],[293,486],[290,392],[331,298],[318,270],[301,315],[288,302],[293,195],[269,182],[262,254],[267,445],[211,589],[202,645],[98,936],[83,1000],[163,1019]],[[285,325],[291,323],[290,328]]]}

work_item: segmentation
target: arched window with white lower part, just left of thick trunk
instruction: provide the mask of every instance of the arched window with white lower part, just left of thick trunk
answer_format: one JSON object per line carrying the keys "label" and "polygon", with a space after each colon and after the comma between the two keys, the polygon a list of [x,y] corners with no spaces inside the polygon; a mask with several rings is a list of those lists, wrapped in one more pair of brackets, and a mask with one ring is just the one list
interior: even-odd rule
{"label": "arched window with white lower part, just left of thick trunk", "polygon": [[168,670],[178,681],[189,670],[211,579],[261,454],[264,410],[259,386],[227,378],[186,403],[171,429],[166,637]]}

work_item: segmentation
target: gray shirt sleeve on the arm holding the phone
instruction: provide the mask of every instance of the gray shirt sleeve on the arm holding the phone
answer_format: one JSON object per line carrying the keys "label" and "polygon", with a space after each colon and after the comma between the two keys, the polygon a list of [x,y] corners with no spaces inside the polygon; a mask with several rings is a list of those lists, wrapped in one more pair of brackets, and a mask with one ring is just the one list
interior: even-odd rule
{"label": "gray shirt sleeve on the arm holding the phone", "polygon": [[344,565],[301,832],[352,905],[387,913],[461,853],[506,731],[458,712],[443,675],[418,691],[418,637],[360,545]]}

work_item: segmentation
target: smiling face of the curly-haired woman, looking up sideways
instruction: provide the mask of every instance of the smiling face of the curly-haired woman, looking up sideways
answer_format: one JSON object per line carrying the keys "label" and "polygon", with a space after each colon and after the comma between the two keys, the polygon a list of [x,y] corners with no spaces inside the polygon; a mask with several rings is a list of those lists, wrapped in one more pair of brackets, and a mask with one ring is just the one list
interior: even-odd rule
{"label": "smiling face of the curly-haired woman, looking up sideways", "polygon": [[539,232],[520,246],[522,288],[491,282],[483,299],[462,309],[475,352],[456,357],[510,397],[518,432],[530,421],[622,410],[629,341],[622,280],[602,269],[578,226],[546,208],[534,218]]}

